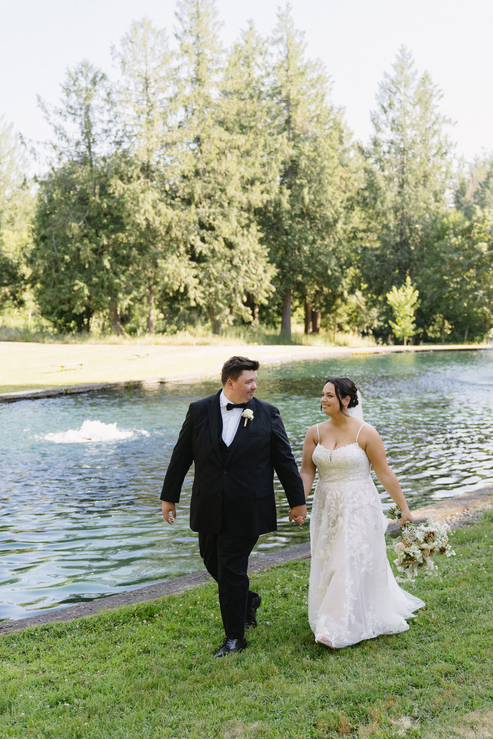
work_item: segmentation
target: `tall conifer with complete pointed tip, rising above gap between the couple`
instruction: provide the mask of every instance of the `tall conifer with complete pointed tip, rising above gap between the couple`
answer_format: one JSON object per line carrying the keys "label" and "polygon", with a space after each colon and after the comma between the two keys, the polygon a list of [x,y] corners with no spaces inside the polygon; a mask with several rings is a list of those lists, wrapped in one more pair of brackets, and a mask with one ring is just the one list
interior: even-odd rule
{"label": "tall conifer with complete pointed tip, rising above gap between the couple", "polygon": [[[299,294],[310,314],[322,296],[339,287],[344,272],[344,202],[347,197],[347,131],[330,105],[330,88],[319,62],[305,59],[289,4],[279,12],[273,46],[273,131],[285,140],[279,194],[262,218],[276,265],[282,299],[282,334],[290,338],[291,305]],[[312,324],[313,326],[313,324]]]}

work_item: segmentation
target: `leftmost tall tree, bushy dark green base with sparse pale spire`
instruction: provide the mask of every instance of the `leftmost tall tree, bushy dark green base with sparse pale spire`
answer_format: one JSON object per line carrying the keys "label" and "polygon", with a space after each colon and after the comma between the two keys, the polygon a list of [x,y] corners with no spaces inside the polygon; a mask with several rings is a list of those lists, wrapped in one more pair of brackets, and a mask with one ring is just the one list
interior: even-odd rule
{"label": "leftmost tall tree, bushy dark green base with sparse pale spire", "polygon": [[52,168],[39,183],[33,289],[41,313],[61,330],[90,330],[101,313],[124,333],[120,310],[134,293],[135,253],[115,188],[125,156],[110,149],[106,75],[83,62],[61,89],[61,107],[42,105],[55,137]]}

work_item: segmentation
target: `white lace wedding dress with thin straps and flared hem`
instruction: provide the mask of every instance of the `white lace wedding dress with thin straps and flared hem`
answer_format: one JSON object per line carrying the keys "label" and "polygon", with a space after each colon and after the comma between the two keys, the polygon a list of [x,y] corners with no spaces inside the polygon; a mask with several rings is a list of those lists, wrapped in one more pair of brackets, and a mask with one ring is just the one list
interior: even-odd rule
{"label": "white lace wedding dress with thin straps and flared hem", "polygon": [[406,619],[424,602],[392,574],[387,518],[358,437],[333,451],[319,437],[312,458],[319,481],[310,517],[308,620],[316,641],[340,648],[406,631]]}

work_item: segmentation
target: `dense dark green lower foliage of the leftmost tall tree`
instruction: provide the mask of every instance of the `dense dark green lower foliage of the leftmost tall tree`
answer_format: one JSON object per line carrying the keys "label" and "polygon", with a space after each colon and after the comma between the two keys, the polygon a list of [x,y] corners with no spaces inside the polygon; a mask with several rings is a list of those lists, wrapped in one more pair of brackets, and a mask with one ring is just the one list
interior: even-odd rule
{"label": "dense dark green lower foliage of the leftmost tall tree", "polygon": [[61,331],[91,330],[98,314],[124,333],[137,254],[126,243],[125,205],[112,160],[88,170],[70,162],[40,183],[30,265],[41,314]]}

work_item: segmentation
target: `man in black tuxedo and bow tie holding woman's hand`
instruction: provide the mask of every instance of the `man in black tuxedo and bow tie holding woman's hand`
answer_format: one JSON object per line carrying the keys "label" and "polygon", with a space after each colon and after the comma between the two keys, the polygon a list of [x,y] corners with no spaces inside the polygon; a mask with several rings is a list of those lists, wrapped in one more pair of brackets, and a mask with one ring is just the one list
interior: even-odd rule
{"label": "man in black tuxedo and bow tie holding woman's hand", "polygon": [[290,521],[307,515],[305,493],[278,409],[254,398],[259,362],[231,357],[222,390],[191,403],[171,454],[161,500],[168,523],[176,518],[183,480],[195,463],[190,528],[216,580],[225,640],[214,655],[248,647],[245,626],[256,626],[261,598],[248,590],[248,556],[260,534],[277,528],[275,470],[290,505]]}

